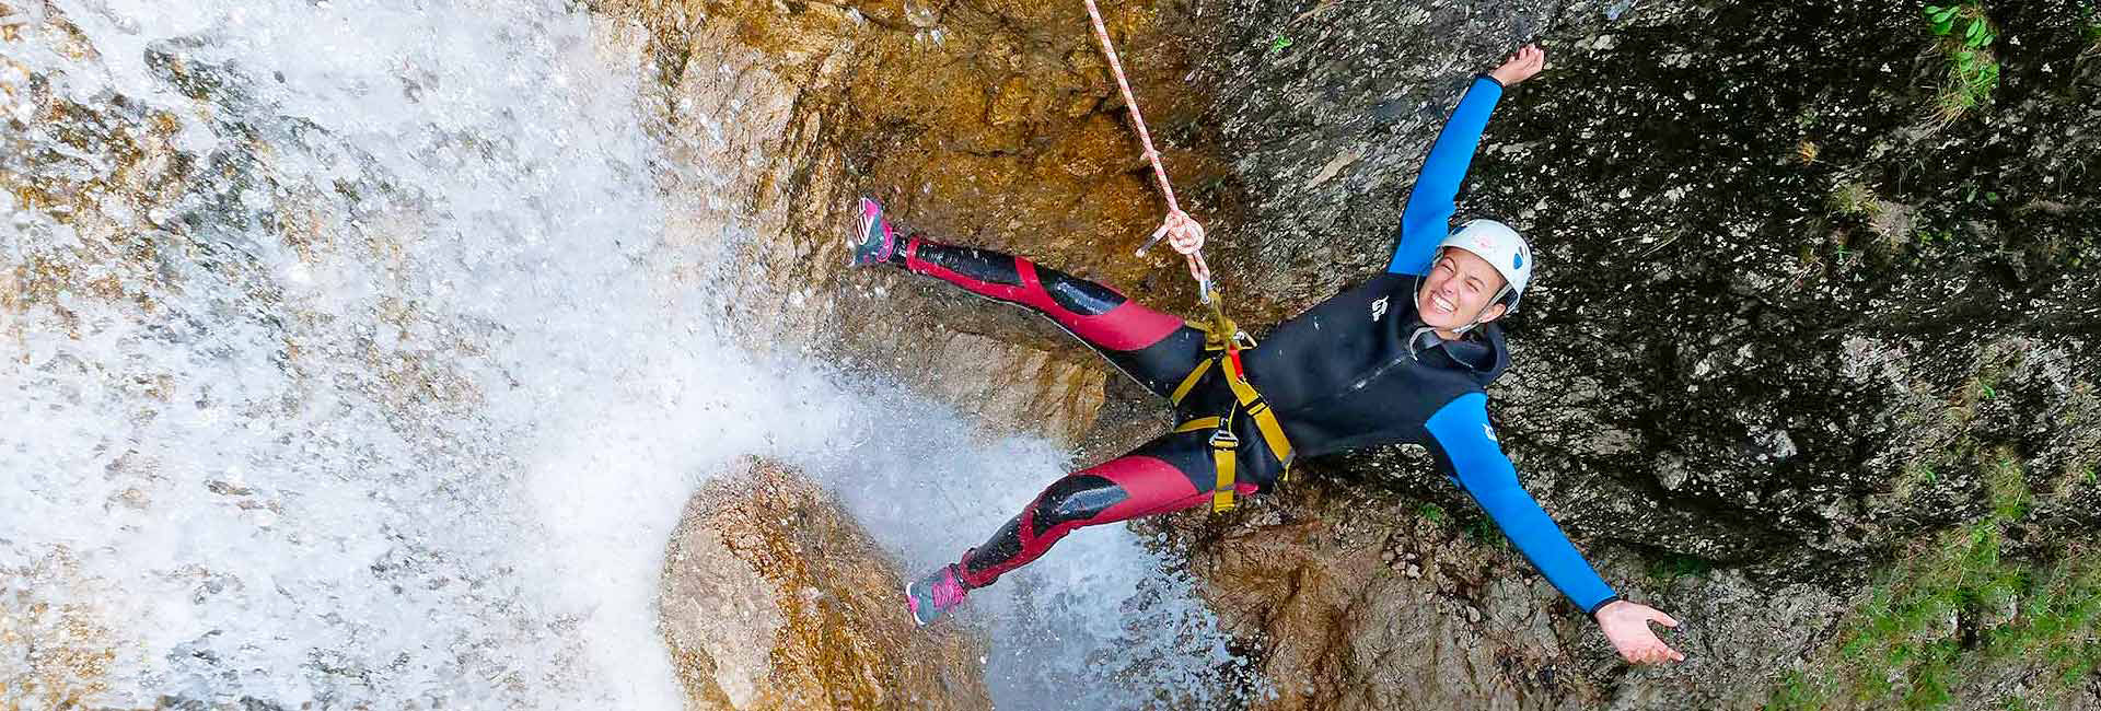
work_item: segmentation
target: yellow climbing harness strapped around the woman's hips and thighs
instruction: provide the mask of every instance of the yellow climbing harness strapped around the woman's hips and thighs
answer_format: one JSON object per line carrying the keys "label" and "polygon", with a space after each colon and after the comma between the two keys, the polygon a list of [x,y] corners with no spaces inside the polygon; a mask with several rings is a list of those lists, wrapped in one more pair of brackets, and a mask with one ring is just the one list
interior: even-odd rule
{"label": "yellow climbing harness strapped around the woman's hips and thighs", "polygon": [[1212,367],[1225,378],[1225,386],[1233,388],[1235,405],[1225,409],[1219,417],[1195,417],[1183,422],[1174,432],[1198,432],[1210,428],[1210,461],[1219,470],[1216,487],[1210,491],[1210,510],[1229,512],[1233,510],[1233,478],[1240,470],[1240,436],[1233,434],[1235,413],[1248,413],[1254,417],[1254,428],[1263,434],[1263,445],[1269,453],[1284,464],[1284,474],[1280,478],[1288,480],[1292,472],[1292,443],[1284,438],[1284,426],[1277,424],[1277,413],[1269,409],[1263,394],[1248,384],[1248,371],[1240,365],[1240,352],[1254,348],[1254,338],[1233,325],[1233,319],[1225,317],[1225,308],[1219,308],[1219,296],[1206,294],[1206,304],[1210,304],[1210,323],[1189,321],[1189,327],[1204,331],[1204,350],[1216,352],[1204,361],[1198,361],[1195,369],[1174,386],[1174,394],[1168,396],[1177,407],[1183,398],[1195,390],[1195,384],[1210,373]]}

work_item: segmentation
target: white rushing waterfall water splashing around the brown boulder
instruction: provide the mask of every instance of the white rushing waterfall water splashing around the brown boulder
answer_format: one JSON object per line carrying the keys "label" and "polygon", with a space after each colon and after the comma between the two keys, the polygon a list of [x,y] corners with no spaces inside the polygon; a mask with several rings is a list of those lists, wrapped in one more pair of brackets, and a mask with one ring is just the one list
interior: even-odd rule
{"label": "white rushing waterfall water splashing around the brown boulder", "polygon": [[[679,709],[651,598],[708,472],[800,464],[916,573],[1067,466],[731,346],[660,227],[708,166],[571,2],[0,15],[0,707]],[[1084,531],[975,596],[1000,707],[1210,694],[1162,568]]]}

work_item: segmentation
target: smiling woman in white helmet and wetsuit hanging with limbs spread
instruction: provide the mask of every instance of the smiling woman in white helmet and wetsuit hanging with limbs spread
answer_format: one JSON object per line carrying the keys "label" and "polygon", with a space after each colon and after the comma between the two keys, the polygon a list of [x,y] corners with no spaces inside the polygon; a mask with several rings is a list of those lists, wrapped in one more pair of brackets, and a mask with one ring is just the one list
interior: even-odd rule
{"label": "smiling woman in white helmet and wetsuit hanging with limbs spread", "polygon": [[[882,206],[861,199],[855,264],[903,266],[1042,313],[1145,388],[1172,398],[1193,424],[1053,482],[983,545],[906,585],[914,619],[931,623],[1074,529],[1204,505],[1214,489],[1225,497],[1269,491],[1294,453],[1418,443],[1563,596],[1597,619],[1626,661],[1683,661],[1647,625],[1677,627],[1677,621],[1620,600],[1599,579],[1519,487],[1488,422],[1483,390],[1509,367],[1496,321],[1517,308],[1532,279],[1532,250],[1494,220],[1452,231],[1452,201],[1502,90],[1544,63],[1544,50],[1525,46],[1473,82],[1408,195],[1385,275],[1277,325],[1258,348],[1242,352],[1244,384],[1258,390],[1258,401],[1235,394],[1223,361],[1204,367],[1212,357],[1206,333],[1183,319],[1017,256],[918,235],[899,241]],[[1187,224],[1181,218],[1170,224]],[[1177,252],[1202,247],[1202,231],[1177,229],[1172,237]],[[1263,419],[1254,417],[1261,403],[1282,434],[1263,432]],[[1219,413],[1223,426],[1221,417],[1202,417]],[[1229,476],[1221,478],[1221,470]]]}

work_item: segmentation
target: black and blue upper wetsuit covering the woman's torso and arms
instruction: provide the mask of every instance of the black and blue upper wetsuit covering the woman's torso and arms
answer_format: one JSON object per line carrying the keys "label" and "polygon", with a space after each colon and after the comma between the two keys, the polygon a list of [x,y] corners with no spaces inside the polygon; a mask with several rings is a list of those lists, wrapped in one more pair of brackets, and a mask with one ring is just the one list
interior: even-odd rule
{"label": "black and blue upper wetsuit covering the woman's torso and arms", "polygon": [[1511,365],[1502,329],[1485,323],[1458,342],[1424,333],[1410,348],[1422,327],[1416,281],[1450,233],[1452,201],[1498,99],[1502,84],[1483,76],[1452,111],[1408,195],[1387,273],[1277,325],[1246,354],[1248,380],[1305,457],[1393,443],[1427,447],[1561,594],[1595,612],[1618,596],[1519,487],[1488,422],[1483,388]]}

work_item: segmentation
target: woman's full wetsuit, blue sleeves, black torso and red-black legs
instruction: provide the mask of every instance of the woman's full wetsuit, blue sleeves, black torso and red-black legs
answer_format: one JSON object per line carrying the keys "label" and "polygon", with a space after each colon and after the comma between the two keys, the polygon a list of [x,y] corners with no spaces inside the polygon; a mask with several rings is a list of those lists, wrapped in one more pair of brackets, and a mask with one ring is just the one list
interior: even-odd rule
{"label": "woman's full wetsuit, blue sleeves, black torso and red-black legs", "polygon": [[[1275,407],[1303,457],[1424,445],[1561,594],[1595,612],[1618,598],[1519,487],[1488,422],[1483,388],[1509,367],[1502,331],[1490,323],[1464,340],[1441,342],[1422,329],[1414,308],[1414,283],[1450,231],[1452,201],[1500,96],[1502,86],[1483,76],[1460,99],[1408,195],[1387,273],[1277,325],[1244,354],[1248,382]],[[1162,396],[1206,357],[1204,333],[1181,319],[1017,256],[914,237],[893,262],[1042,313]],[[1177,407],[1177,422],[1219,415],[1231,405],[1231,390],[1212,369]],[[1252,417],[1235,424],[1237,489],[1252,495],[1269,489],[1284,466],[1254,432]],[[1204,505],[1214,476],[1208,438],[1208,428],[1168,432],[1059,478],[962,556],[960,581],[990,585],[1080,526]]]}

